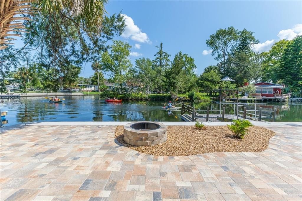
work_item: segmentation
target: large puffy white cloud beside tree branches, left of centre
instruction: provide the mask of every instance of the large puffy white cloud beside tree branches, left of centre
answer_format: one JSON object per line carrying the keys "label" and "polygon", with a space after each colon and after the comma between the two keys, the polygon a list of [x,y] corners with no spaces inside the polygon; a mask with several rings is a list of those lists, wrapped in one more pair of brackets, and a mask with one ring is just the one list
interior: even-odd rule
{"label": "large puffy white cloud beside tree branches, left of centre", "polygon": [[122,14],[125,19],[125,30],[122,34],[124,38],[130,38],[131,40],[135,40],[140,43],[151,43],[149,37],[146,33],[143,33],[140,28],[134,24],[134,21],[129,16]]}

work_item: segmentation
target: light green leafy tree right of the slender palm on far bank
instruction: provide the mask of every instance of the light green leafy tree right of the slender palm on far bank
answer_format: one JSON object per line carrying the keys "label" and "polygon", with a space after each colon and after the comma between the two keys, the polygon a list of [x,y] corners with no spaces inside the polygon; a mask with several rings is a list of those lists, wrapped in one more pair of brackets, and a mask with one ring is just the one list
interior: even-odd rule
{"label": "light green leafy tree right of the slender palm on far bank", "polygon": [[130,55],[131,46],[127,42],[115,40],[108,51],[102,54],[103,71],[109,72],[109,81],[117,83],[122,88],[123,82],[126,82],[126,73],[132,67],[131,61],[128,58]]}

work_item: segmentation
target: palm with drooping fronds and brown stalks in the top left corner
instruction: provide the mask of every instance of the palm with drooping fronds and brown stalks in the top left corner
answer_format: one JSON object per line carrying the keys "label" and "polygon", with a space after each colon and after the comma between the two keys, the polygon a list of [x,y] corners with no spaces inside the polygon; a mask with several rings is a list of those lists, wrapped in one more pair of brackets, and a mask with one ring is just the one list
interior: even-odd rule
{"label": "palm with drooping fronds and brown stalks in the top left corner", "polygon": [[5,49],[8,44],[14,44],[10,43],[10,40],[15,39],[7,37],[21,36],[9,32],[16,30],[26,32],[22,30],[25,27],[24,21],[26,23],[30,20],[26,14],[60,14],[86,32],[98,33],[107,3],[108,0],[1,0],[0,49]]}

